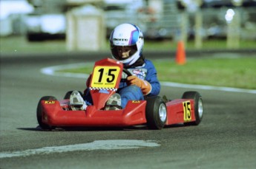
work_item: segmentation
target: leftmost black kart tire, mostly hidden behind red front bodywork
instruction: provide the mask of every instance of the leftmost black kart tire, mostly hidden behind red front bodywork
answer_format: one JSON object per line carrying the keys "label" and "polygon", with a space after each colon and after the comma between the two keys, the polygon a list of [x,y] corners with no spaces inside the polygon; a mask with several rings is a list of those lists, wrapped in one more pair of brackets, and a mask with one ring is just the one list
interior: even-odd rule
{"label": "leftmost black kart tire, mostly hidden behind red front bodywork", "polygon": [[51,130],[53,129],[52,126],[42,122],[42,104],[41,104],[42,100],[57,100],[57,99],[56,97],[53,97],[53,96],[44,96],[39,100],[39,103],[36,108],[36,118],[37,118],[37,122],[39,123],[39,126],[44,130]]}

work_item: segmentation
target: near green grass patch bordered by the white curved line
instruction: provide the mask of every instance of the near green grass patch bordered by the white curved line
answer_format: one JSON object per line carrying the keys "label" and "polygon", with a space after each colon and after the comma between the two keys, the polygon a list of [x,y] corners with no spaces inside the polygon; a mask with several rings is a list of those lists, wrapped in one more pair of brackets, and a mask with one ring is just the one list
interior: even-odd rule
{"label": "near green grass patch bordered by the white curved line", "polygon": [[[256,58],[204,58],[188,60],[183,66],[174,61],[153,61],[160,81],[256,89]],[[62,72],[90,74],[93,66]]]}

